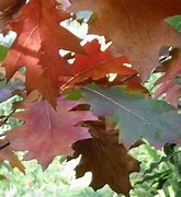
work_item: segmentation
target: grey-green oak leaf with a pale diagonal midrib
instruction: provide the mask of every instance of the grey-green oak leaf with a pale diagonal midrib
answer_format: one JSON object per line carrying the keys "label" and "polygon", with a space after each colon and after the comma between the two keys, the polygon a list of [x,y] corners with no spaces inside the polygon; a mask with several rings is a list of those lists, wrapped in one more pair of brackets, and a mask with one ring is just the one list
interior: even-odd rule
{"label": "grey-green oak leaf with a pale diagonal midrib", "polygon": [[166,142],[181,143],[181,115],[172,105],[128,93],[121,86],[88,85],[81,90],[97,116],[110,115],[120,123],[120,141],[124,144],[129,147],[140,137],[158,148]]}

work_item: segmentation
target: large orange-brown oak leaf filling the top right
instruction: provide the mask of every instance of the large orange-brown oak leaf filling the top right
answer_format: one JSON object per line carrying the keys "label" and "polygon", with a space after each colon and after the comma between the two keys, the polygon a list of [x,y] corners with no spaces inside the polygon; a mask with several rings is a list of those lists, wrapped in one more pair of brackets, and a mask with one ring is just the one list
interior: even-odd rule
{"label": "large orange-brown oak leaf filling the top right", "polygon": [[[66,7],[67,0],[64,1]],[[115,53],[128,57],[146,80],[159,63],[161,46],[181,45],[180,33],[165,19],[181,13],[180,0],[69,0],[69,11],[93,11],[90,32],[105,35],[113,42]],[[111,13],[111,15],[110,15]]]}

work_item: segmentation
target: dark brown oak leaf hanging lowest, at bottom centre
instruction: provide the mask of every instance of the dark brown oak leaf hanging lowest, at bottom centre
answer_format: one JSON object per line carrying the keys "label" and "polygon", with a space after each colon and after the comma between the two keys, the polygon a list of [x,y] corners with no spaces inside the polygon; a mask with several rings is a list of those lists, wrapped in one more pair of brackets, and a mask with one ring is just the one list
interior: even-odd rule
{"label": "dark brown oak leaf hanging lowest, at bottom centre", "polygon": [[72,144],[75,158],[81,154],[76,166],[76,177],[92,173],[90,186],[97,190],[108,184],[114,192],[129,196],[132,185],[129,174],[139,171],[139,162],[128,155],[124,146],[118,143],[117,128],[101,121],[87,121],[92,139]]}

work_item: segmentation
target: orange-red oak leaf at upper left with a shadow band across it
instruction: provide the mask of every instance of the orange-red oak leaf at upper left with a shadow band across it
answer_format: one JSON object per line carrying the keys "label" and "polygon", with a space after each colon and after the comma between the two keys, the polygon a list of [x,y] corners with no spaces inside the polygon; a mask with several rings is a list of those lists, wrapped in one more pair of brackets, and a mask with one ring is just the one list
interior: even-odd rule
{"label": "orange-red oak leaf at upper left with a shadow band across it", "polygon": [[69,14],[58,11],[54,0],[31,0],[11,23],[18,38],[4,60],[8,79],[25,66],[27,92],[38,89],[53,105],[58,95],[57,78],[70,76],[59,48],[83,51],[79,39],[59,25],[67,18]]}

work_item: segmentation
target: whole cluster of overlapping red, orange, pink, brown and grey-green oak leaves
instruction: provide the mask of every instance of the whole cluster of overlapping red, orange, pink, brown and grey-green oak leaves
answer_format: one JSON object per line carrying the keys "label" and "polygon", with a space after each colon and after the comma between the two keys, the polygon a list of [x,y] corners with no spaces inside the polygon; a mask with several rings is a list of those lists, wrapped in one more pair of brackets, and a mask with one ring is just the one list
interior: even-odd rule
{"label": "whole cluster of overlapping red, orange, pink, brown and grey-green oak leaves", "polygon": [[[82,23],[75,13],[82,10],[91,13],[89,33],[112,42],[105,50],[98,39],[81,46],[59,25],[69,19]],[[77,177],[91,172],[94,190],[108,184],[129,196],[129,174],[140,163],[128,151],[144,138],[159,149],[181,143],[179,14],[180,0],[0,0],[0,31],[16,33],[10,48],[0,46],[1,82],[13,84],[0,90],[0,102],[22,97],[1,125],[10,117],[23,121],[1,135],[0,160],[24,173],[14,151],[26,151],[23,159],[36,159],[43,170],[57,155],[81,154]],[[144,85],[152,72],[162,73],[155,94]],[[157,165],[167,160],[179,165],[170,147],[166,154]],[[157,179],[162,188],[170,174],[144,181]]]}

